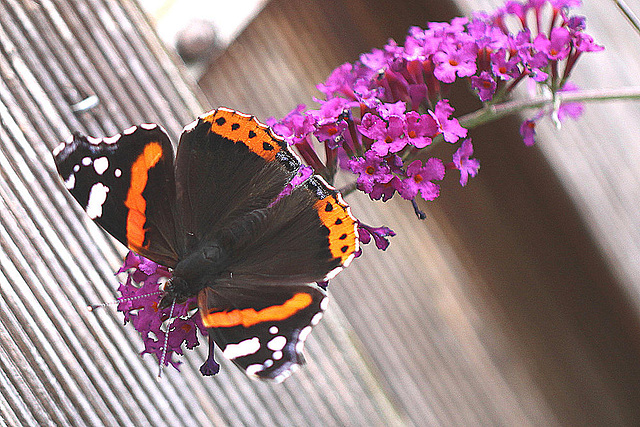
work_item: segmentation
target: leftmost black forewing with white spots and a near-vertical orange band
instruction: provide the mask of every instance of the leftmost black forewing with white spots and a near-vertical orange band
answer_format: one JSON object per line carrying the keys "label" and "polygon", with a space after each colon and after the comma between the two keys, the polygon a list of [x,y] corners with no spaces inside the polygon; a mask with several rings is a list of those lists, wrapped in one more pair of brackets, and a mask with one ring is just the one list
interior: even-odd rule
{"label": "leftmost black forewing with white spots and a near-vertical orange band", "polygon": [[158,125],[110,138],[79,134],[54,150],[65,186],[109,234],[152,261],[177,260],[173,148]]}

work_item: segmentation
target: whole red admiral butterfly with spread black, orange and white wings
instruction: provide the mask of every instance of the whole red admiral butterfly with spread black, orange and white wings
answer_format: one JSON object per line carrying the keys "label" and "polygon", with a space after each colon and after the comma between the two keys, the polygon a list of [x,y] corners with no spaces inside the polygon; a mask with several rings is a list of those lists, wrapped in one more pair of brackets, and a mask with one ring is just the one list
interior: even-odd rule
{"label": "whole red admiral butterfly with spread black, orange and white wings", "polygon": [[185,127],[175,162],[154,124],[76,134],[53,154],[92,219],[173,269],[161,305],[197,295],[209,338],[249,375],[282,380],[304,362],[327,304],[315,283],[354,258],[357,221],[319,176],[283,192],[301,163],[269,127],[219,108]]}

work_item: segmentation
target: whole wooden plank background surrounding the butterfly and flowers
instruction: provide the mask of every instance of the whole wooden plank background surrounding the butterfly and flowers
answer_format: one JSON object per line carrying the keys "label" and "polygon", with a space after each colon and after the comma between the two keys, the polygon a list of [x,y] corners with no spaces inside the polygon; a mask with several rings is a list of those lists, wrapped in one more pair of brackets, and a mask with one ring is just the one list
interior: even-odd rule
{"label": "whole wooden plank background surrounding the butterfly and flowers", "polygon": [[[57,178],[49,151],[72,131],[157,122],[177,141],[218,106],[282,117],[410,26],[499,6],[0,0],[0,422],[640,425],[633,101],[588,104],[562,129],[542,123],[532,148],[518,133],[526,116],[474,129],[478,176],[464,188],[446,179],[420,206],[424,221],[406,201],[351,195],[359,219],[397,236],[332,281],[308,364],[284,384],[225,362],[201,377],[206,344],[158,382],[121,316],[85,309],[114,298],[124,252]],[[574,83],[637,85],[640,36],[614,3],[574,13],[606,48],[581,58]],[[458,114],[479,107],[463,88],[451,98]]]}

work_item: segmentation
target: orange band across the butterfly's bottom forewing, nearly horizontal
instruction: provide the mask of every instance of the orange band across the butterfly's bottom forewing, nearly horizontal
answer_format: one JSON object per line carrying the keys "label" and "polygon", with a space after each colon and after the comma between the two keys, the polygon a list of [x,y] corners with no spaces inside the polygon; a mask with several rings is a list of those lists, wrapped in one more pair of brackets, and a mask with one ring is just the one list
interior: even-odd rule
{"label": "orange band across the butterfly's bottom forewing, nearly horizontal", "polygon": [[282,305],[273,305],[256,311],[253,308],[231,311],[215,311],[202,313],[202,322],[207,328],[228,328],[244,326],[245,328],[261,322],[287,319],[298,311],[307,308],[313,298],[311,295],[299,292]]}

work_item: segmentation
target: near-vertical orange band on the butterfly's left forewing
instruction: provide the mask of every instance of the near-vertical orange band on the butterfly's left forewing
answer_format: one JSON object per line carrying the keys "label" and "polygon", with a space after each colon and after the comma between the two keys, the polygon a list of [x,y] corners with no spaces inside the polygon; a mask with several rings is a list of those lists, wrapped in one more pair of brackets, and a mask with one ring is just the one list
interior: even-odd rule
{"label": "near-vertical orange band on the butterfly's left forewing", "polygon": [[161,157],[162,145],[158,142],[151,142],[144,147],[144,151],[131,166],[131,184],[124,204],[129,208],[127,243],[129,248],[134,251],[143,248],[146,232],[144,223],[147,221],[147,201],[142,196],[142,192],[147,186],[149,169],[154,167]]}

